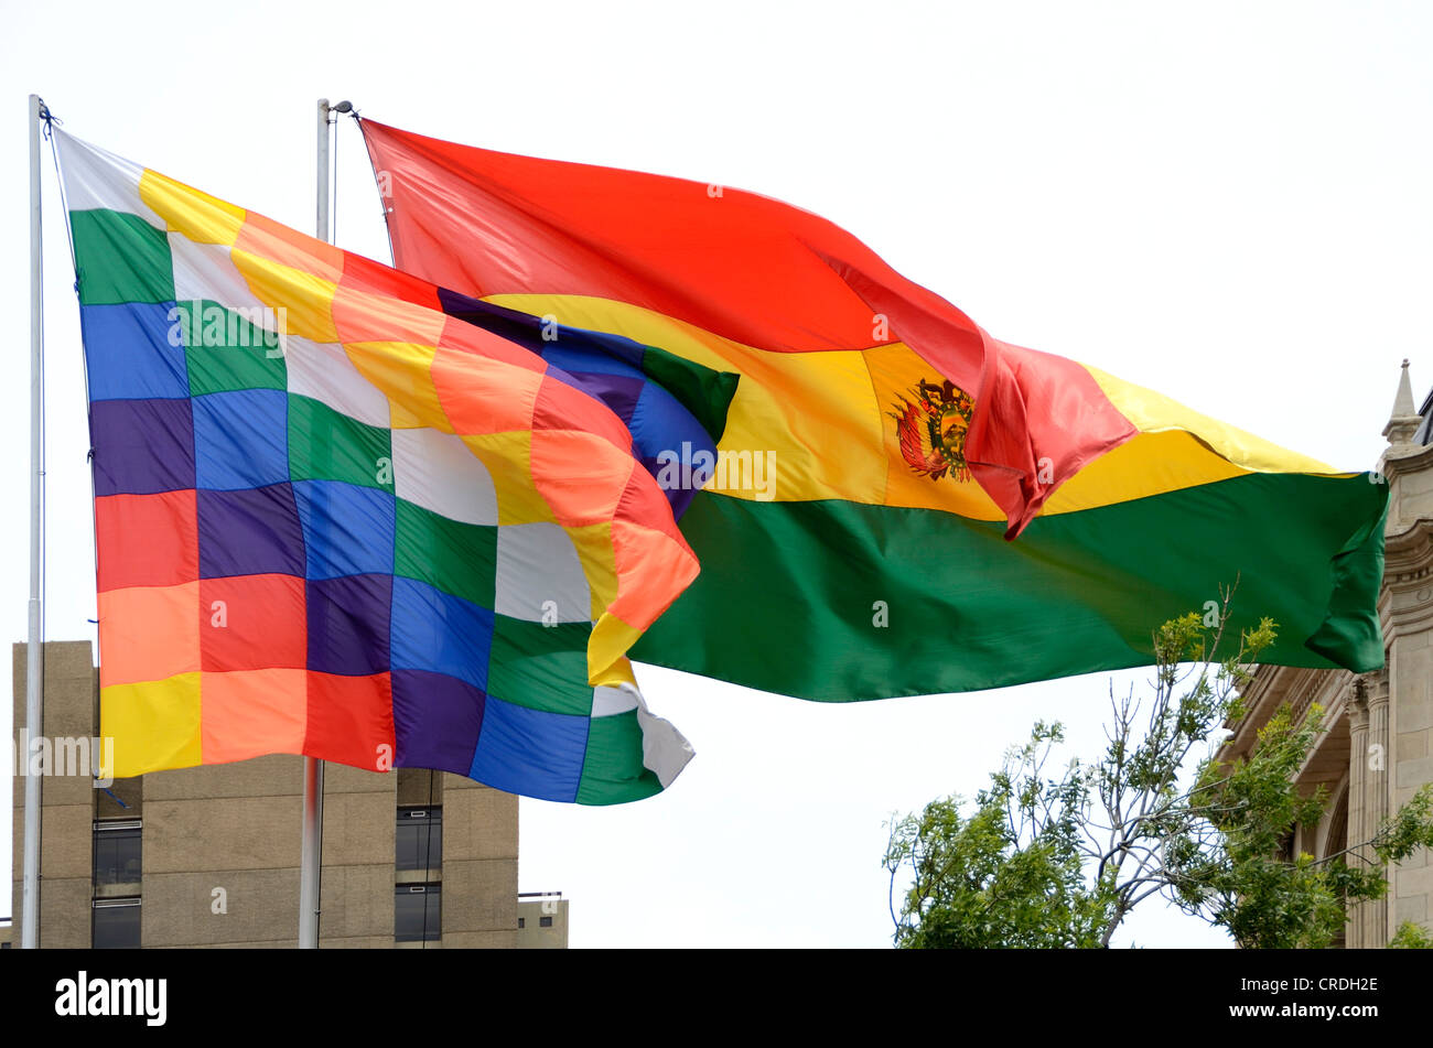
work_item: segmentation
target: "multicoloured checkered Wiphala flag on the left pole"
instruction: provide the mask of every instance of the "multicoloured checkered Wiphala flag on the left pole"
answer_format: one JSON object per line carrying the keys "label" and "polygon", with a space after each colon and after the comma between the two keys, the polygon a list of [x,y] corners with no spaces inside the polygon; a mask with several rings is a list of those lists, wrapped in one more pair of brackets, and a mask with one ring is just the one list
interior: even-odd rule
{"label": "multicoloured checkered Wiphala flag on the left pole", "polygon": [[599,805],[671,783],[691,747],[626,651],[698,573],[641,461],[714,447],[695,415],[590,345],[567,372],[577,332],[543,359],[431,285],[52,133],[107,770],[304,753]]}

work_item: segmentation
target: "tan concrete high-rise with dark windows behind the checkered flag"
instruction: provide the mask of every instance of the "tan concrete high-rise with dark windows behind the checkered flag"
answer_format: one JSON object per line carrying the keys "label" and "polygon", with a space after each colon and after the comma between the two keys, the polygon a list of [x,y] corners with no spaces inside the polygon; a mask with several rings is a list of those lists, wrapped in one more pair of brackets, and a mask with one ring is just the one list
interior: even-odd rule
{"label": "tan concrete high-rise with dark windows behind the checkered flag", "polygon": [[[24,653],[14,647],[17,739]],[[96,789],[76,740],[97,734],[97,709],[90,644],[46,644],[44,736],[56,773],[42,795],[40,946],[295,946],[302,757]],[[13,785],[19,945],[24,779]],[[560,928],[549,919],[543,933],[520,933],[516,796],[441,772],[325,765],[321,948],[565,946],[567,903],[543,905],[545,916],[560,912]]]}

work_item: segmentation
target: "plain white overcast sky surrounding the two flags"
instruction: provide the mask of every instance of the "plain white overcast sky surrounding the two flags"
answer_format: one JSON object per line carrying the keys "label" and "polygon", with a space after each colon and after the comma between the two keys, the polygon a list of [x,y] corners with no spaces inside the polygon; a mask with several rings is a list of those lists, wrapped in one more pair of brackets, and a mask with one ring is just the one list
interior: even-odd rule
{"label": "plain white overcast sky surrounding the two flags", "polygon": [[[305,231],[321,96],[457,142],[762,192],[845,226],[1002,339],[1341,468],[1376,462],[1403,356],[1416,395],[1433,379],[1427,6],[0,11],[10,640],[26,636],[29,92],[75,135]],[[387,261],[347,122],[338,156],[338,243]],[[79,322],[49,166],[44,192],[47,636],[93,639]],[[572,898],[573,946],[887,945],[888,813],[974,792],[1037,717],[1092,753],[1108,689],[1093,676],[823,706],[655,669],[641,680],[698,752],[674,787],[618,809],[522,802],[522,889]],[[1221,942],[1175,913],[1144,915],[1131,938]]]}

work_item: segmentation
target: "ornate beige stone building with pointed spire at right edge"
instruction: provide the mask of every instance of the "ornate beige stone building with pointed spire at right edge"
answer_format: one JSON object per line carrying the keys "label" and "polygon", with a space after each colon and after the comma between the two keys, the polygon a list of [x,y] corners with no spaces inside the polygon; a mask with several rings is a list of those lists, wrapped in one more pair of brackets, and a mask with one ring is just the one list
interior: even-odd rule
{"label": "ornate beige stone building with pointed spire at right edge", "polygon": [[[1283,703],[1295,717],[1313,703],[1324,709],[1298,782],[1310,792],[1323,786],[1328,803],[1317,826],[1297,828],[1293,853],[1326,858],[1367,840],[1384,816],[1433,782],[1433,394],[1422,411],[1413,404],[1404,361],[1379,464],[1390,485],[1379,594],[1384,667],[1356,676],[1261,666],[1244,694],[1244,719],[1228,724],[1234,734],[1224,753],[1237,757]],[[1387,878],[1386,898],[1350,908],[1346,946],[1383,946],[1404,921],[1433,928],[1427,850],[1390,866]]]}

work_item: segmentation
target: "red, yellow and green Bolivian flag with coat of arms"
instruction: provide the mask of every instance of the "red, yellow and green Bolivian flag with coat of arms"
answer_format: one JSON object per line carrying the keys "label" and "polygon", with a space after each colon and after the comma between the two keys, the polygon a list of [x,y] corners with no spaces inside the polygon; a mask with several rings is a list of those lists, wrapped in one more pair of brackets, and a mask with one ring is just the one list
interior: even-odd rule
{"label": "red, yellow and green Bolivian flag with coat of arms", "polygon": [[798,208],[363,127],[400,269],[741,377],[714,461],[671,450],[702,573],[633,657],[964,692],[1149,664],[1237,584],[1265,661],[1383,664],[1379,475],[1003,344]]}

